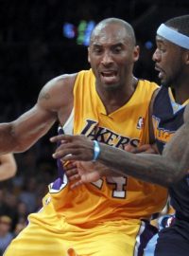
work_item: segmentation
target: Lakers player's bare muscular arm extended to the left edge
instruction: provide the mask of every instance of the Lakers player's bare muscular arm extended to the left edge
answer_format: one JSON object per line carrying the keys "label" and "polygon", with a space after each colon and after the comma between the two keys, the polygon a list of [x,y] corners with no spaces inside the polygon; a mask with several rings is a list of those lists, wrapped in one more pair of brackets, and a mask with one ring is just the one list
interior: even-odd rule
{"label": "Lakers player's bare muscular arm extended to the left edge", "polygon": [[68,115],[74,80],[74,76],[61,76],[47,82],[33,108],[12,122],[0,124],[0,154],[26,151],[61,115]]}

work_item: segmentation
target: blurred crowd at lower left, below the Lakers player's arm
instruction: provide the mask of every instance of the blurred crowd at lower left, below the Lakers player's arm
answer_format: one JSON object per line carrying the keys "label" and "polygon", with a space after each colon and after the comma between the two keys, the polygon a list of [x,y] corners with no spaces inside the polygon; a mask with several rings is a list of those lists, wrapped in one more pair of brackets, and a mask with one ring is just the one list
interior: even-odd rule
{"label": "blurred crowd at lower left, below the Lakers player's arm", "polygon": [[48,146],[40,144],[15,155],[16,176],[0,182],[0,255],[11,239],[26,227],[27,215],[42,208],[47,186],[57,175],[51,154]]}

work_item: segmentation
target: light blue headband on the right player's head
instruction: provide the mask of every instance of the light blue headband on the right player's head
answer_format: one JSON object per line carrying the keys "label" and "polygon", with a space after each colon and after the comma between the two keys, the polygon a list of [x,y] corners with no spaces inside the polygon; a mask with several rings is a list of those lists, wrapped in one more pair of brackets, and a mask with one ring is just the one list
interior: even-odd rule
{"label": "light blue headband on the right player's head", "polygon": [[157,30],[157,35],[162,36],[177,46],[189,49],[189,37],[171,27],[162,24]]}

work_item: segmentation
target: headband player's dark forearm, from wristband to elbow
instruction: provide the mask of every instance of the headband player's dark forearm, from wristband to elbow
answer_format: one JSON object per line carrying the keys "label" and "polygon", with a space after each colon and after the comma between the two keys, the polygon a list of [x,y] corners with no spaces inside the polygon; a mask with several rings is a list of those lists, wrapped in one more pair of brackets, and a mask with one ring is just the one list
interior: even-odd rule
{"label": "headband player's dark forearm, from wristband to elbow", "polygon": [[163,155],[135,155],[104,144],[100,144],[100,147],[99,160],[122,175],[131,175],[168,187],[177,182],[183,174],[179,164],[169,161]]}

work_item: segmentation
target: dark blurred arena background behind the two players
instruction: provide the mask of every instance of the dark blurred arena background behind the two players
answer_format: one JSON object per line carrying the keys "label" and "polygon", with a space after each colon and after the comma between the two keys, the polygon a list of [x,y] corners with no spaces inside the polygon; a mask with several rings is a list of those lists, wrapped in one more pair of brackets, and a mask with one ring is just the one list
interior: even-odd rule
{"label": "dark blurred arena background behind the two players", "polygon": [[[0,0],[0,121],[16,119],[29,109],[50,79],[89,68],[91,30],[112,16],[135,29],[141,46],[135,76],[159,82],[151,60],[156,29],[188,13],[188,0]],[[26,225],[26,215],[41,207],[46,185],[56,178],[48,141],[56,128],[26,153],[15,155],[16,176],[0,182],[0,216],[9,216],[8,230],[14,235]]]}

